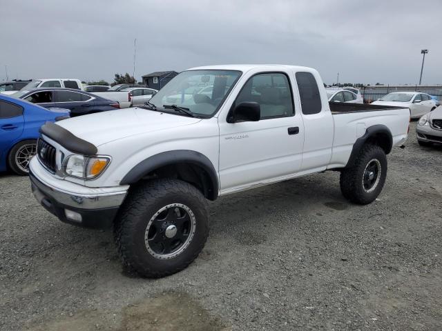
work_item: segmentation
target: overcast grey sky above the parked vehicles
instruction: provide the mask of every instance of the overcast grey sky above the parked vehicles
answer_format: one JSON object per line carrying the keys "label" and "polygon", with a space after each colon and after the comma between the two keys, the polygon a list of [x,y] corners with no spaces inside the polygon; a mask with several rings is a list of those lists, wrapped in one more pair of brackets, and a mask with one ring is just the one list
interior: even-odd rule
{"label": "overcast grey sky above the parked vehicles", "polygon": [[222,63],[316,68],[326,83],[442,83],[442,1],[0,0],[0,81],[113,81]]}

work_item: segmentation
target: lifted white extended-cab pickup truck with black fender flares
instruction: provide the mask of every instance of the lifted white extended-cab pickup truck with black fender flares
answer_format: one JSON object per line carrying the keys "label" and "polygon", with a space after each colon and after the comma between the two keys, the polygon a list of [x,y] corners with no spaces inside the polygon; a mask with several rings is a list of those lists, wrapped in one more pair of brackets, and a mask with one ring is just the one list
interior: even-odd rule
{"label": "lifted white extended-cab pickup truck with black fender flares", "polygon": [[[195,84],[211,94],[186,96]],[[30,180],[61,221],[113,226],[124,264],[162,277],[204,247],[208,200],[337,170],[349,201],[374,201],[409,121],[408,108],[329,104],[311,68],[193,68],[146,106],[44,125]]]}

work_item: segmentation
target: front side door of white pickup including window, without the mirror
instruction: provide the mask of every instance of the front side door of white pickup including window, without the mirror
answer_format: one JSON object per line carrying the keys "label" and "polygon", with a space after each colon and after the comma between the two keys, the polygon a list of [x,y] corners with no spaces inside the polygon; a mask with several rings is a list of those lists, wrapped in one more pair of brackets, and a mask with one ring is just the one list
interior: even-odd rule
{"label": "front side door of white pickup including window, without the mirror", "polygon": [[300,169],[304,127],[293,100],[289,76],[282,72],[255,74],[244,84],[232,108],[256,102],[260,120],[219,119],[221,192],[271,182]]}

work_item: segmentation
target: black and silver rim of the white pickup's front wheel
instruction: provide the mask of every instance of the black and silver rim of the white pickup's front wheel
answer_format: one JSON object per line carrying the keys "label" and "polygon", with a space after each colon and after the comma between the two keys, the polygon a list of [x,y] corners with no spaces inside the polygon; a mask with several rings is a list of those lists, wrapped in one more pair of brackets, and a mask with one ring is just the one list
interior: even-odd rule
{"label": "black and silver rim of the white pickup's front wheel", "polygon": [[173,259],[189,246],[195,234],[196,219],[182,203],[164,206],[148,221],[144,243],[157,259]]}

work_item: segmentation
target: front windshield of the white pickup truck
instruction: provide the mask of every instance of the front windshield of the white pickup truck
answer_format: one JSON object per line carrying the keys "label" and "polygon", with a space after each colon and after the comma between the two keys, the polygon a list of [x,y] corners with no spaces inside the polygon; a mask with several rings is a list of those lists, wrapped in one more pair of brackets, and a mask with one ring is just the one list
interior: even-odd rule
{"label": "front windshield of the white pickup truck", "polygon": [[211,117],[240,77],[233,70],[189,70],[174,77],[149,101],[157,108],[176,105],[195,116]]}

